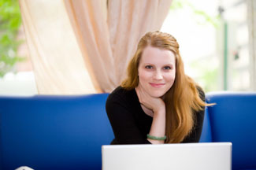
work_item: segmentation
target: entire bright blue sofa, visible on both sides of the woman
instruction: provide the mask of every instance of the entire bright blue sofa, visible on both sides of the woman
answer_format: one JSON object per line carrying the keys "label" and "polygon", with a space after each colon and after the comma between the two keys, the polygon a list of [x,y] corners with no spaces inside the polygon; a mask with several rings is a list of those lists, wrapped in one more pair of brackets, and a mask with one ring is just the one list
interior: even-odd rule
{"label": "entire bright blue sofa, visible on both sides of the woman", "polygon": [[[113,139],[108,94],[0,97],[0,169],[101,169]],[[232,142],[232,169],[256,169],[256,93],[210,93],[200,142]]]}

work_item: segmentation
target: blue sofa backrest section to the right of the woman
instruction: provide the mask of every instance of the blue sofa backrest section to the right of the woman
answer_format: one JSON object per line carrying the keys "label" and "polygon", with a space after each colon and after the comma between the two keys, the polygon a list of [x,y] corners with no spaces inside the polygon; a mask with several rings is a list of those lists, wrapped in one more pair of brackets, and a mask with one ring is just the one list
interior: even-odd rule
{"label": "blue sofa backrest section to the right of the woman", "polygon": [[232,142],[232,169],[256,169],[256,93],[208,93],[206,102],[217,104],[207,109],[212,141]]}

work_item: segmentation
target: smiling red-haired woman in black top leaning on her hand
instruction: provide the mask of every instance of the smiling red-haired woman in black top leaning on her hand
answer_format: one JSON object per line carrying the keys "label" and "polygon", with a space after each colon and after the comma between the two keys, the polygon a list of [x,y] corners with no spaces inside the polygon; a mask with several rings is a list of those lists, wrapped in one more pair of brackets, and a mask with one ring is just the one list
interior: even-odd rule
{"label": "smiling red-haired woman in black top leaning on her hand", "polygon": [[205,95],[184,73],[176,39],[160,31],[139,40],[128,77],[106,101],[111,144],[198,142]]}

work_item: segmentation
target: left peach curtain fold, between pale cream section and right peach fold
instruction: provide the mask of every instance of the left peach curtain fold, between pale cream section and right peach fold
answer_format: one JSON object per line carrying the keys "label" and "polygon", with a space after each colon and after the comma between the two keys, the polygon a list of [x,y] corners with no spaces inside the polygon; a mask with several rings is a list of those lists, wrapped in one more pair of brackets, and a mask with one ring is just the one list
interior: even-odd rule
{"label": "left peach curtain fold, between pale cream section and right peach fold", "polygon": [[102,91],[109,92],[117,84],[113,70],[112,51],[109,46],[109,31],[106,23],[106,1],[65,0],[65,6],[76,30],[80,46],[86,49],[84,60],[91,64],[90,74],[94,74]]}

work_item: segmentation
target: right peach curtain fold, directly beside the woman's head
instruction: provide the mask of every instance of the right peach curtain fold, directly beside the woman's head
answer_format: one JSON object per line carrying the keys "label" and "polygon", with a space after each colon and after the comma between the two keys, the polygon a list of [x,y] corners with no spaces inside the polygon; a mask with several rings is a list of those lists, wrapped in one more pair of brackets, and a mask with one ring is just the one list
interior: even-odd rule
{"label": "right peach curtain fold, directly beside the woman's head", "polygon": [[[160,30],[171,6],[169,0],[109,0],[108,24],[118,84],[139,39],[147,31]],[[116,84],[116,85],[118,85]]]}

